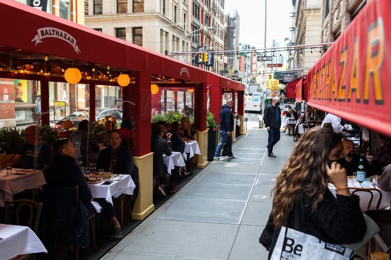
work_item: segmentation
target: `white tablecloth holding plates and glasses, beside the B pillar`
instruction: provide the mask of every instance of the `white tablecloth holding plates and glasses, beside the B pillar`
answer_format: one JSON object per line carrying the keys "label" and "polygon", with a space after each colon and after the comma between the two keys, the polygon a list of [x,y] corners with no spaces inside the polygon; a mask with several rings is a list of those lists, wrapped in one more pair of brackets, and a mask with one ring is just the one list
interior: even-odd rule
{"label": "white tablecloth holding plates and glasses, beside the B pillar", "polygon": [[112,196],[117,198],[121,194],[133,195],[133,190],[136,187],[129,174],[122,174],[120,180],[113,181],[110,185],[102,185],[102,182],[96,184],[88,184],[93,198],[105,198],[113,204]]}

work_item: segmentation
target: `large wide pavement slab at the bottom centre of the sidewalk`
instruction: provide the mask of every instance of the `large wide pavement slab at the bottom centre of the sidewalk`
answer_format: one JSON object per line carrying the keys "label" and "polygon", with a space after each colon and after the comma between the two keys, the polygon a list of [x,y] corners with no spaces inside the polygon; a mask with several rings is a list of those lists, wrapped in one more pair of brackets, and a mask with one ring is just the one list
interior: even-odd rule
{"label": "large wide pavement slab at the bottom centre of the sidewalk", "polygon": [[238,229],[239,225],[154,220],[123,252],[228,259]]}

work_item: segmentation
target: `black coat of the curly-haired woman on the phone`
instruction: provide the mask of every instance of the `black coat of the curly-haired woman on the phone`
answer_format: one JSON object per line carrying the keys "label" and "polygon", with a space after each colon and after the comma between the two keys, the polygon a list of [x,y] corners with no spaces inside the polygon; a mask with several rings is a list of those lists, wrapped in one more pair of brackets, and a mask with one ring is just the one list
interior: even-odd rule
{"label": "black coat of the curly-haired woman on the phone", "polygon": [[[287,219],[290,228],[294,226],[292,212],[293,210]],[[335,198],[329,190],[326,191],[314,212],[312,212],[312,205],[304,206],[304,223],[305,226],[299,231],[333,244],[356,243],[361,241],[366,233],[360,198],[357,195],[337,195]],[[259,239],[266,249],[272,245],[274,231],[273,216],[270,214]]]}

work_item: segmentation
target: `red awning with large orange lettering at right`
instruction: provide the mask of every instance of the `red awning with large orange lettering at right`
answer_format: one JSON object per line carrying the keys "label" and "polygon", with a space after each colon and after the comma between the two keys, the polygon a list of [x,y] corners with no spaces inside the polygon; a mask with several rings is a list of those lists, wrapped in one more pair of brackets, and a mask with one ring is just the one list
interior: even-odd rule
{"label": "red awning with large orange lettering at right", "polygon": [[391,1],[372,0],[308,71],[308,105],[391,136]]}

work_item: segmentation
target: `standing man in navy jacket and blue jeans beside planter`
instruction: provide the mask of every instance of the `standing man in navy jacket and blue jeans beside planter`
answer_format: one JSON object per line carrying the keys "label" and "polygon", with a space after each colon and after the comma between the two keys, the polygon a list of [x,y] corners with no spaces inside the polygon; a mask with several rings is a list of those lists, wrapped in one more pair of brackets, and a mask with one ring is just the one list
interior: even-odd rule
{"label": "standing man in navy jacket and blue jeans beside planter", "polygon": [[221,107],[220,110],[220,142],[217,145],[215,160],[223,160],[224,158],[220,156],[221,149],[226,144],[225,148],[228,152],[227,159],[237,159],[238,156],[235,156],[232,153],[232,131],[234,130],[234,115],[232,114],[232,107],[234,102],[231,99],[228,99],[226,104]]}

